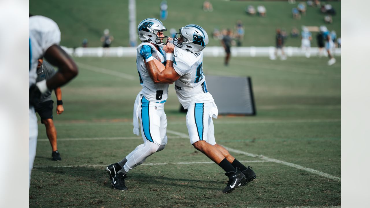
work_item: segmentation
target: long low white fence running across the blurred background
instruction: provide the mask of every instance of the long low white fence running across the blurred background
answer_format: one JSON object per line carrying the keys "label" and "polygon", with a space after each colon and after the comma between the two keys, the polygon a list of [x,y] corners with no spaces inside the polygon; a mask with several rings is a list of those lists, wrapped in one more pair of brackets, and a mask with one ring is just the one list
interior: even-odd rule
{"label": "long low white fence running across the blurred background", "polygon": [[[136,57],[136,47],[112,47],[112,48],[62,48],[70,55],[75,57]],[[285,53],[288,57],[304,57],[306,51],[299,47],[285,47]],[[231,56],[233,57],[271,57],[275,53],[275,47],[232,47]],[[311,56],[317,56],[319,48],[311,48]],[[203,50],[205,57],[224,57],[225,50],[223,47],[211,46]],[[341,56],[341,49],[334,49],[335,56]],[[323,56],[327,56],[323,49]]]}

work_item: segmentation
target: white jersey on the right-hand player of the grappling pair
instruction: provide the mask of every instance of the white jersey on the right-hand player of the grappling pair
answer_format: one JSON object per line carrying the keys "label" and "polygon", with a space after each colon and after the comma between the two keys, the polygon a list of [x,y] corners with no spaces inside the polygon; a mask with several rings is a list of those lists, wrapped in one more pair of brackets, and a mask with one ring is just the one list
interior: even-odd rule
{"label": "white jersey on the right-hand player of the grappling pair", "polygon": [[212,103],[203,74],[203,52],[193,53],[175,47],[174,69],[181,76],[175,81],[177,97],[186,109],[192,103]]}

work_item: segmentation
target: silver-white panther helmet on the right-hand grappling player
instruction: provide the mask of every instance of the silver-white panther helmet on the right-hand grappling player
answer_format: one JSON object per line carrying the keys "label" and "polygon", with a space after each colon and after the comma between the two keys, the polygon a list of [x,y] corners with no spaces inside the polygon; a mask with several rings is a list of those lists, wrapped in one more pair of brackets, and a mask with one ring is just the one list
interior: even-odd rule
{"label": "silver-white panther helmet on the right-hand grappling player", "polygon": [[208,34],[196,24],[188,24],[175,34],[174,44],[185,51],[200,52],[208,44]]}

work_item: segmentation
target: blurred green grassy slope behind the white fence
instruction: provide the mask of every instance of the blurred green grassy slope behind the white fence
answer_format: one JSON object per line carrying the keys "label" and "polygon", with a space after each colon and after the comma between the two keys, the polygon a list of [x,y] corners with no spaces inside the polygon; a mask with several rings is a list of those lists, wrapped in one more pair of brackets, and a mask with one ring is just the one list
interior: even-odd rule
{"label": "blurred green grassy slope behind the white fence", "polygon": [[[159,4],[162,0],[136,1],[137,24],[146,18],[159,19]],[[300,20],[292,18],[292,8],[296,4],[287,1],[221,1],[211,0],[213,12],[204,12],[203,1],[171,0],[168,1],[168,18],[163,21],[166,28],[178,30],[186,24],[198,24],[207,31],[209,37],[214,28],[233,29],[237,20],[242,20],[245,26],[243,46],[275,46],[276,28],[285,28],[289,34],[293,27],[301,29],[305,26],[320,26],[324,23],[324,14],[319,8],[308,7],[306,16]],[[267,17],[248,16],[245,7],[248,5],[265,5]],[[330,1],[336,10],[333,24],[327,24],[329,30],[336,30],[341,36],[341,2]],[[100,37],[103,30],[109,28],[114,36],[112,47],[128,46],[128,1],[109,0],[30,0],[30,13],[44,15],[53,19],[61,30],[61,45],[80,47],[84,38],[89,41],[89,47],[100,47]],[[312,46],[316,47],[316,34],[312,33]],[[165,34],[169,35],[169,33]],[[300,46],[300,38],[287,38],[286,46]],[[209,46],[220,46],[218,40],[210,38]]]}

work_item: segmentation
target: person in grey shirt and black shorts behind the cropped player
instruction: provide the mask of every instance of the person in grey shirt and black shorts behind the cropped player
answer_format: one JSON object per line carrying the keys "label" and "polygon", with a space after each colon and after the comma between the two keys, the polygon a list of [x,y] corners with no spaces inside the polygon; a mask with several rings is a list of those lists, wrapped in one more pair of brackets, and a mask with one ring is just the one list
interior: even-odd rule
{"label": "person in grey shirt and black shorts behind the cropped player", "polygon": [[[43,58],[38,59],[36,82],[47,80],[55,73],[56,71],[54,71],[54,68],[49,63],[44,61]],[[62,91],[60,87],[55,88],[54,91],[55,97],[57,97],[57,115],[59,115],[64,111]],[[52,160],[58,161],[62,160],[62,158],[60,157],[60,153],[57,148],[57,130],[55,129],[53,122],[53,103],[54,101],[51,100],[51,90],[48,90],[46,93],[41,95],[40,100],[34,107],[35,111],[38,113],[38,115],[40,115],[41,124],[45,124],[46,135],[53,150],[51,152]]]}

